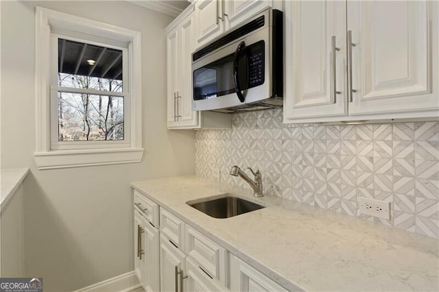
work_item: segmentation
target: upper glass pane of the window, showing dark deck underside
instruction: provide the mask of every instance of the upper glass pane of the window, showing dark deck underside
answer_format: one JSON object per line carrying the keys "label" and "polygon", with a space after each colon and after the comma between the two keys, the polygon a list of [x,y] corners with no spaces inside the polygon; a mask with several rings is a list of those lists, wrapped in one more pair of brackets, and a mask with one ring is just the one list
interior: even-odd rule
{"label": "upper glass pane of the window, showing dark deck underside", "polygon": [[58,39],[58,85],[122,92],[122,51]]}

